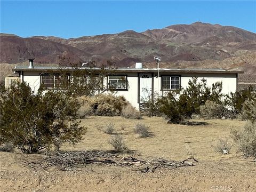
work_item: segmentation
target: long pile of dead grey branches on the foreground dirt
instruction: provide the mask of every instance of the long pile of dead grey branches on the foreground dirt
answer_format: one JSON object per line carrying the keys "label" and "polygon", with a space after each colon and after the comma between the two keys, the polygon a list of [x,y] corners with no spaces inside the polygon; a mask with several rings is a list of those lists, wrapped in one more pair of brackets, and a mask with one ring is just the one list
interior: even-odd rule
{"label": "long pile of dead grey branches on the foreground dirt", "polygon": [[106,151],[58,152],[54,155],[48,156],[45,161],[48,165],[52,165],[63,171],[70,170],[71,168],[78,166],[97,163],[103,165],[129,167],[132,169],[132,171],[138,172],[154,172],[156,169],[194,166],[194,162],[198,162],[194,157],[187,158],[181,162],[162,158],[138,159],[132,156],[121,158],[114,154],[106,153]]}

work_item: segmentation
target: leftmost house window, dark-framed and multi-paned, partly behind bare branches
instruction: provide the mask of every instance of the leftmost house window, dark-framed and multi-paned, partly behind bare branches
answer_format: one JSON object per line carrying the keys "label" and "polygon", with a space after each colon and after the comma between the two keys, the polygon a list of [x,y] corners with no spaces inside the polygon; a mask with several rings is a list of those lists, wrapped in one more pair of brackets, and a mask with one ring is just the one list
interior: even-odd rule
{"label": "leftmost house window, dark-framed and multi-paned, partly behind bare branches", "polygon": [[66,86],[68,82],[69,82],[68,75],[65,75],[65,76],[50,75],[50,74],[41,75],[41,84],[43,84],[47,89]]}

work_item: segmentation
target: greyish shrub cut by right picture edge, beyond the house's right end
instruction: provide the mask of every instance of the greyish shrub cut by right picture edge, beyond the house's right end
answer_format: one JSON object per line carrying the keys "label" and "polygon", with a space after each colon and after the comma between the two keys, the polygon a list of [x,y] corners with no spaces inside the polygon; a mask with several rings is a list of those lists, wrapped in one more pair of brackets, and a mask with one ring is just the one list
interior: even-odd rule
{"label": "greyish shrub cut by right picture edge, beyond the house's right end", "polygon": [[243,119],[256,122],[256,95],[243,103],[241,116]]}

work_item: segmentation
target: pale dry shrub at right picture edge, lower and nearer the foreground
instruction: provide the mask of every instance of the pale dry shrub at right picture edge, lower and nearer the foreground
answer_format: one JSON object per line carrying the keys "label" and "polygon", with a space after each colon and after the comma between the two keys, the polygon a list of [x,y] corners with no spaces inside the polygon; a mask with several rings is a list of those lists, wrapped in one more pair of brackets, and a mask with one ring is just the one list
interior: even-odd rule
{"label": "pale dry shrub at right picture edge, lower and nearer the foreground", "polygon": [[256,159],[256,123],[248,121],[242,130],[231,129],[231,136],[245,157]]}

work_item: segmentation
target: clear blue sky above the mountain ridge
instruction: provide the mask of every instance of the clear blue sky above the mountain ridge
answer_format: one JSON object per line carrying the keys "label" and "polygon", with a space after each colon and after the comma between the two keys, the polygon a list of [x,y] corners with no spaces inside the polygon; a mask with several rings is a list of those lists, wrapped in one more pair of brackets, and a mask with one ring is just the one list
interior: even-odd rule
{"label": "clear blue sky above the mountain ridge", "polygon": [[256,33],[256,1],[2,1],[1,33],[63,38],[196,21]]}

